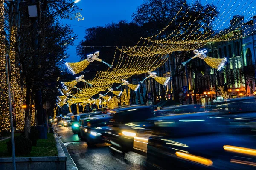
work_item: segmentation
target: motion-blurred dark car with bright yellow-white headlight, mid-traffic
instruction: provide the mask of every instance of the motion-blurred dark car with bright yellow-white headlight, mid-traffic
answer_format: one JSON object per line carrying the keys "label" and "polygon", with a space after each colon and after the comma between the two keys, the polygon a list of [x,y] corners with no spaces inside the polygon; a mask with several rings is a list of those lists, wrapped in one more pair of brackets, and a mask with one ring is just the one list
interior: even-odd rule
{"label": "motion-blurred dark car with bright yellow-white headlight, mid-traffic", "polygon": [[111,142],[110,148],[119,153],[133,150],[134,136],[145,119],[153,117],[150,106],[119,108],[110,111],[113,118],[107,124],[108,129],[102,138]]}

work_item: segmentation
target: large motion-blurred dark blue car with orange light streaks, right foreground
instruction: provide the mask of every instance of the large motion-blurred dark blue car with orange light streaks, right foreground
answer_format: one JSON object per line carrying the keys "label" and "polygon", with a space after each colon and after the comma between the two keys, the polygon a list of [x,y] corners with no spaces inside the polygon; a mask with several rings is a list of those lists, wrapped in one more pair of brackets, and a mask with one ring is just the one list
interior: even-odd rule
{"label": "large motion-blurred dark blue car with orange light streaks, right foreground", "polygon": [[[232,133],[230,119],[183,114],[148,122],[151,130],[141,131],[134,141],[144,139],[148,164],[155,169],[255,168],[248,165],[255,166],[256,137]],[[143,135],[147,133],[148,139]],[[135,147],[143,148],[138,142]]]}

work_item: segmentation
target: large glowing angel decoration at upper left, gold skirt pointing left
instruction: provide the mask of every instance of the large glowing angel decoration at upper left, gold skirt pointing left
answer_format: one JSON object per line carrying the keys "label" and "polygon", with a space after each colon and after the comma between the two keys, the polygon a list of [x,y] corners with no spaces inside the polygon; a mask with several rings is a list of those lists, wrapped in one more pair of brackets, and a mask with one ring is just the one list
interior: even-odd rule
{"label": "large glowing angel decoration at upper left, gold skirt pointing left", "polygon": [[65,65],[67,66],[67,68],[69,69],[69,71],[74,75],[74,74],[78,74],[81,71],[83,71],[85,68],[87,68],[87,66],[90,64],[90,62],[93,62],[94,60],[99,61],[99,62],[103,62],[104,64],[108,65],[109,68],[112,68],[113,65],[110,65],[104,61],[102,61],[102,59],[99,59],[99,51],[96,51],[94,54],[90,54],[87,55],[88,58],[80,61],[80,62],[66,62]]}

